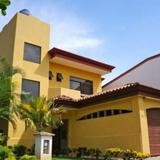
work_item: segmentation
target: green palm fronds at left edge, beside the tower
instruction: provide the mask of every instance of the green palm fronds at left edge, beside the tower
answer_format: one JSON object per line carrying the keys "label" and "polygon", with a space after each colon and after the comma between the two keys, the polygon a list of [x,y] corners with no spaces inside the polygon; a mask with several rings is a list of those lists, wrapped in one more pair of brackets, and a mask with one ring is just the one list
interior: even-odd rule
{"label": "green palm fronds at left edge, beside the tower", "polygon": [[17,73],[22,74],[21,69],[7,64],[4,58],[0,58],[0,118],[11,122],[16,128],[17,98],[15,92],[16,84],[12,82],[12,77]]}

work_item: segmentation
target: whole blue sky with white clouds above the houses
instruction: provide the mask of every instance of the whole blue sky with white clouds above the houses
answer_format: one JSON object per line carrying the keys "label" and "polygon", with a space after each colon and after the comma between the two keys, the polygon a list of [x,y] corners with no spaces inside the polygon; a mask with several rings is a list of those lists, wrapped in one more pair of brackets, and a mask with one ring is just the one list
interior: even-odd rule
{"label": "whole blue sky with white clouds above the houses", "polygon": [[50,24],[50,48],[115,66],[103,83],[160,53],[160,0],[11,0],[0,31],[24,8]]}

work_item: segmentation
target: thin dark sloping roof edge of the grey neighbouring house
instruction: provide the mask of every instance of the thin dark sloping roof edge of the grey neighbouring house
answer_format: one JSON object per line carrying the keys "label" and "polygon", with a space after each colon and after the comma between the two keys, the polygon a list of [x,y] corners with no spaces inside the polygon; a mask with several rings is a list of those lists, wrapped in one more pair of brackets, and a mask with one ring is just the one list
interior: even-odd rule
{"label": "thin dark sloping roof edge of the grey neighbouring house", "polygon": [[142,62],[138,63],[138,64],[135,65],[134,67],[130,68],[130,69],[127,70],[126,72],[120,74],[119,76],[117,76],[116,78],[114,78],[113,80],[111,80],[110,82],[104,84],[104,85],[102,86],[102,88],[104,88],[104,87],[106,87],[107,85],[113,83],[113,82],[116,81],[117,79],[125,76],[127,73],[131,72],[132,70],[134,70],[135,68],[141,66],[142,64],[144,64],[144,63],[146,63],[146,62],[148,62],[148,61],[150,61],[150,60],[152,60],[152,59],[158,58],[158,57],[160,57],[160,53],[159,53],[159,54],[156,54],[156,55],[154,55],[154,56],[151,56],[151,57],[146,58],[145,60],[143,60]]}

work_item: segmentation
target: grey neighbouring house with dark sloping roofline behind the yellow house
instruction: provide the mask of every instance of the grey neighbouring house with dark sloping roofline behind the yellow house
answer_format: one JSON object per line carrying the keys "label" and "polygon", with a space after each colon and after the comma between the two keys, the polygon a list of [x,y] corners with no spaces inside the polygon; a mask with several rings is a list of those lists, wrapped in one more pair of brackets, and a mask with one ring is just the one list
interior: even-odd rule
{"label": "grey neighbouring house with dark sloping roofline behind the yellow house", "polygon": [[160,54],[154,55],[140,62],[128,71],[103,86],[103,90],[119,87],[128,83],[141,83],[160,89]]}

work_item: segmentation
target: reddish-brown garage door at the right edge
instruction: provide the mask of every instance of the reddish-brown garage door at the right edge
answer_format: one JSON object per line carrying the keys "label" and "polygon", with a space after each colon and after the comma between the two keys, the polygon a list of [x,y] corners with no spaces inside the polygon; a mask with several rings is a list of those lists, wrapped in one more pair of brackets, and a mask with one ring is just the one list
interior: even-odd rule
{"label": "reddish-brown garage door at the right edge", "polygon": [[150,152],[160,155],[160,109],[147,110]]}

